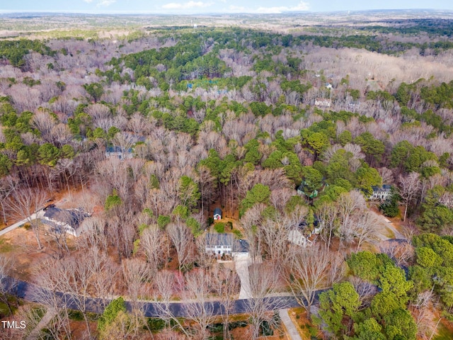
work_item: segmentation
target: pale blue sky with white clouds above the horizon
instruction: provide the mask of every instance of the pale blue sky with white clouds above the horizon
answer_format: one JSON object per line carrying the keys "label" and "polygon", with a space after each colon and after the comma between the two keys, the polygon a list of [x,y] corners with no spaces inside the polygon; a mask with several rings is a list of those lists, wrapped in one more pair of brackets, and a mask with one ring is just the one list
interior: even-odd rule
{"label": "pale blue sky with white clouds above the horizon", "polygon": [[453,10],[452,0],[0,0],[0,11],[79,13],[285,13],[430,8]]}

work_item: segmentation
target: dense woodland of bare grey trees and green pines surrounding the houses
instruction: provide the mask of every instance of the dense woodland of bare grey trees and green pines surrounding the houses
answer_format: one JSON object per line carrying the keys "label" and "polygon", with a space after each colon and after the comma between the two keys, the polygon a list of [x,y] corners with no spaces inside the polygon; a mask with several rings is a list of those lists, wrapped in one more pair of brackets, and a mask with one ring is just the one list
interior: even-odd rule
{"label": "dense woodland of bare grey trees and green pines surrounding the houses", "polygon": [[[355,29],[0,40],[3,224],[56,196],[91,215],[77,238],[30,218],[32,244],[14,246],[45,254],[26,279],[53,294],[19,306],[2,290],[9,313],[30,331],[55,310],[42,339],[238,339],[239,278],[205,254],[221,207],[217,232],[250,244],[244,339],[277,334],[277,293],[304,308],[311,339],[430,339],[453,319],[452,22]],[[391,198],[369,200],[383,184]],[[403,239],[380,237],[381,214]],[[289,242],[294,228],[311,246]],[[10,255],[0,287],[23,278]],[[117,298],[96,315],[89,296]],[[172,300],[205,307],[180,319]]]}

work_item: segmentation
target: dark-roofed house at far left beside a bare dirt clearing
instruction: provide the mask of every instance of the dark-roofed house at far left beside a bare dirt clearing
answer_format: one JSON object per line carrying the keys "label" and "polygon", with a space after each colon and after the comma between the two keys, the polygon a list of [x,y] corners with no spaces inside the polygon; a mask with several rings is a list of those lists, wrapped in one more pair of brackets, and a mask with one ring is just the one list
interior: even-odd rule
{"label": "dark-roofed house at far left beside a bare dirt clearing", "polygon": [[67,232],[74,237],[80,236],[81,222],[89,215],[79,209],[60,209],[55,205],[45,208],[41,222],[52,228],[53,232]]}

